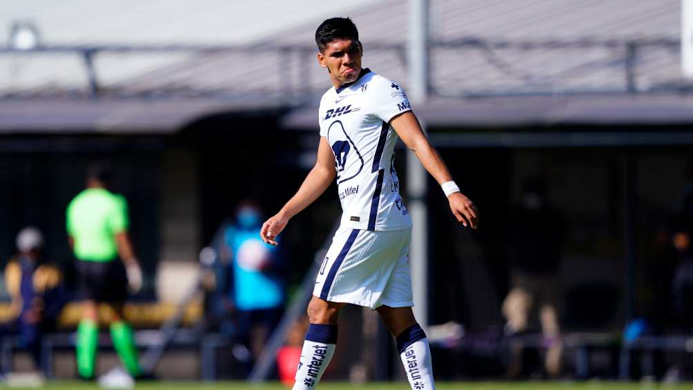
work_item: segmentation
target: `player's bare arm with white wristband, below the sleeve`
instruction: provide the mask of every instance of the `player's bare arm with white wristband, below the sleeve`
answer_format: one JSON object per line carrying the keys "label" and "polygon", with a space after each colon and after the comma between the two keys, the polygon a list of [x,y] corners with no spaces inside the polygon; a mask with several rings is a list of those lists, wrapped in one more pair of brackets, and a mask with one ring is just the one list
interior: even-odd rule
{"label": "player's bare arm with white wristband, below the sleeve", "polygon": [[[428,173],[438,181],[438,184],[453,180],[453,175],[450,175],[450,170],[448,170],[440,154],[428,142],[428,138],[426,138],[426,134],[423,134],[419,120],[413,112],[405,112],[395,116],[390,121],[390,125],[407,145],[407,148],[416,154],[416,157],[423,164],[423,168],[426,168]],[[448,201],[450,202],[450,211],[459,222],[467,226],[468,221],[472,229],[477,229],[479,212],[468,197],[456,192],[448,195]]]}

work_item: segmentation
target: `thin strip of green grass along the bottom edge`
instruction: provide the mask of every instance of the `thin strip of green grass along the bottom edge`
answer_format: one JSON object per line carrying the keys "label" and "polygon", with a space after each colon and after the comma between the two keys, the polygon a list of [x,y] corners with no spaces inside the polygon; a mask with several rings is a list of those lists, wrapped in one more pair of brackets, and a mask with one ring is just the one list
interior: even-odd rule
{"label": "thin strip of green grass along the bottom edge", "polygon": [[[438,382],[438,390],[649,390],[649,389],[693,389],[693,383],[661,385],[656,383],[621,383],[621,382]],[[49,382],[44,387],[53,390],[98,389],[96,384],[85,382]],[[167,390],[286,390],[281,384],[274,382],[253,386],[245,382],[149,382],[137,384],[136,389],[167,389]],[[10,389],[0,385],[0,389]],[[21,389],[12,387],[11,389]],[[349,383],[326,382],[320,384],[320,390],[407,390],[405,382],[387,382],[365,384],[362,386]]]}

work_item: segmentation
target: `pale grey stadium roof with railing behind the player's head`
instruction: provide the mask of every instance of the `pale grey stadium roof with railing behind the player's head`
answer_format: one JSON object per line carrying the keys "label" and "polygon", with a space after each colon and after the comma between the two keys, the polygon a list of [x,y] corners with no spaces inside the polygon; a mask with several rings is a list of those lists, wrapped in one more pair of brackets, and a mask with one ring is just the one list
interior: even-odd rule
{"label": "pale grey stadium roof with railing behind the player's head", "polygon": [[[33,15],[43,44],[0,47],[4,133],[166,133],[209,114],[277,108],[290,109],[286,126],[314,128],[330,85],[313,34],[335,14],[356,21],[364,64],[407,86],[407,0],[337,10],[319,1],[301,9],[132,1],[91,19],[85,0],[26,3],[0,21]],[[430,0],[430,99],[416,110],[441,126],[691,123],[680,6]]]}

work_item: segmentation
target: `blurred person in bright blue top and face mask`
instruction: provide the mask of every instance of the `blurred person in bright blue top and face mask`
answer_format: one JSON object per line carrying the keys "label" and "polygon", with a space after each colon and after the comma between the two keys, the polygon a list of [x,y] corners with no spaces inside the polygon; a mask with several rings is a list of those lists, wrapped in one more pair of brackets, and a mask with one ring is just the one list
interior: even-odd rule
{"label": "blurred person in bright blue top and face mask", "polygon": [[254,202],[241,202],[235,224],[224,231],[222,245],[234,338],[251,351],[253,359],[277,328],[285,299],[279,251],[261,240],[262,222]]}

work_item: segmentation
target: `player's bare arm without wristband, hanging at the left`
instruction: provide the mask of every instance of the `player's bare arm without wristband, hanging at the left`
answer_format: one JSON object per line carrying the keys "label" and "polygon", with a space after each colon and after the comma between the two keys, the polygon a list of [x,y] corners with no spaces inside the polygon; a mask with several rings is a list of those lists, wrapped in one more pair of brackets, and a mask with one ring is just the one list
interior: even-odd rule
{"label": "player's bare arm without wristband, hanging at the left", "polygon": [[320,137],[317,148],[317,161],[315,166],[308,172],[306,179],[301,187],[279,213],[265,221],[260,231],[260,236],[267,244],[277,245],[275,238],[284,230],[289,220],[325,192],[335,179],[335,157],[327,139]]}

